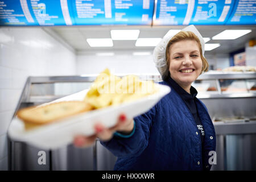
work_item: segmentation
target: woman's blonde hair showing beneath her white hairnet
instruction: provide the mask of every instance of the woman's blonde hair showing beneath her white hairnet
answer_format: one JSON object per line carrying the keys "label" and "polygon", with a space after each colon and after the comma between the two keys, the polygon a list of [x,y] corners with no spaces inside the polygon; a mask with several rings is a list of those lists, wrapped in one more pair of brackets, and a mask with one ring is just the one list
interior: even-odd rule
{"label": "woman's blonde hair showing beneath her white hairnet", "polygon": [[[200,40],[191,31],[180,31],[174,37],[172,37],[171,40],[169,40],[169,42],[166,46],[166,61],[167,61],[167,68],[168,68],[167,71],[169,72],[169,68],[170,68],[170,47],[172,44],[174,44],[176,42],[180,42],[181,40],[195,40],[197,42],[197,44],[199,45],[199,49],[200,49],[201,60],[203,61],[203,67],[202,67],[201,73],[207,72],[209,69],[209,64],[208,64],[207,60],[205,59],[205,57],[203,56]],[[200,73],[200,75],[201,75],[201,73]]]}

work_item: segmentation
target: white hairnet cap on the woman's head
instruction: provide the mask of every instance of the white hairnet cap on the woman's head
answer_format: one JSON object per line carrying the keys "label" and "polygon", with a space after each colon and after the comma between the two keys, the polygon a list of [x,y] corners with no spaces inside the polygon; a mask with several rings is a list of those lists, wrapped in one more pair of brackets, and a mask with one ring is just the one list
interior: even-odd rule
{"label": "white hairnet cap on the woman's head", "polygon": [[[196,27],[193,25],[190,25],[188,27],[183,28],[181,31],[191,31],[199,38],[201,47],[202,47],[202,53],[204,56],[204,39],[199,33],[199,31],[196,29]],[[174,35],[164,36],[164,38],[155,47],[154,53],[153,53],[153,60],[155,62],[155,66],[158,69],[163,80],[168,76],[168,72],[169,72],[169,68],[167,68],[167,61],[166,61],[166,46],[173,36]]]}

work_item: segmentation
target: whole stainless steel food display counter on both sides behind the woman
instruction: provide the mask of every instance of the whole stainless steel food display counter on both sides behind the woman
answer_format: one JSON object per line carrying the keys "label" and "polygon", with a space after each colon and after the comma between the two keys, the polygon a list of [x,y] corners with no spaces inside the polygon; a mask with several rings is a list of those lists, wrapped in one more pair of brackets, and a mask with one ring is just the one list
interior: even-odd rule
{"label": "whole stainless steel food display counter on both sides behind the woman", "polygon": [[[123,75],[117,75],[122,77]],[[159,75],[139,75],[162,81]],[[88,89],[96,75],[28,77],[16,111]],[[207,72],[193,83],[197,98],[207,106],[216,129],[217,164],[212,170],[256,169],[255,72]],[[40,151],[46,163],[39,164]],[[112,170],[115,156],[98,140],[92,147],[72,144],[44,151],[9,138],[11,170]]]}

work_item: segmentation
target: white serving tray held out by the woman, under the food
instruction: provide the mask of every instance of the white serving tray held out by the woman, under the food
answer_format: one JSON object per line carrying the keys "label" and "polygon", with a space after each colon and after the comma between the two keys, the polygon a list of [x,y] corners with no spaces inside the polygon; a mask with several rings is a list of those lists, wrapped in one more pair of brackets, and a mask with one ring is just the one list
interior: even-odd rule
{"label": "white serving tray held out by the woman, under the food", "polygon": [[[150,96],[116,106],[92,110],[88,113],[77,114],[28,131],[24,129],[24,123],[18,117],[14,117],[8,130],[9,137],[11,140],[27,142],[44,150],[54,150],[66,146],[73,142],[73,138],[76,135],[93,135],[93,126],[96,122],[101,122],[106,127],[112,127],[117,123],[117,118],[121,113],[125,113],[127,118],[134,118],[148,111],[162,97],[171,92],[169,86],[155,85],[159,87],[159,92]],[[88,90],[82,90],[52,102],[82,101]]]}

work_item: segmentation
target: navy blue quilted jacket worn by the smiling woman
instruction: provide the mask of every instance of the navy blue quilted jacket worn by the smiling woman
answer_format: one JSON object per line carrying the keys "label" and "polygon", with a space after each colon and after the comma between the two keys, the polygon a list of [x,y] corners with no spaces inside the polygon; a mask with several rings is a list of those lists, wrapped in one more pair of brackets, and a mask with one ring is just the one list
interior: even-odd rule
{"label": "navy blue quilted jacket worn by the smiling woman", "polygon": [[207,108],[198,99],[196,105],[205,130],[203,146],[195,119],[171,88],[154,107],[134,118],[131,137],[101,142],[118,157],[114,170],[209,170],[216,135]]}

